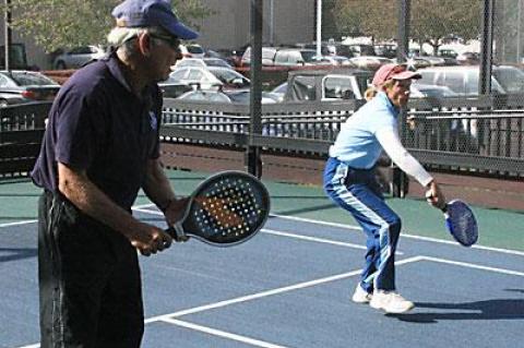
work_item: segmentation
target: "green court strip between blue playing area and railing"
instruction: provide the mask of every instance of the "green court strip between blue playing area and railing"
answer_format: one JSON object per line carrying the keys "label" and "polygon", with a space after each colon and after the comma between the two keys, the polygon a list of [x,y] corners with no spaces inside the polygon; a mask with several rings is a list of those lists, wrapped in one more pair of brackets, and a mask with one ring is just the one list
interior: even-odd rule
{"label": "green court strip between blue playing area and railing", "polygon": [[[168,170],[175,191],[179,195],[192,190],[209,173]],[[333,224],[355,226],[348,213],[335,206],[322,188],[264,181],[272,197],[271,212]],[[0,226],[36,219],[40,190],[29,180],[0,181]],[[425,201],[388,199],[391,207],[402,217],[403,233],[452,240],[444,228],[442,214]],[[151,204],[140,194],[135,205]],[[524,212],[508,212],[473,206],[479,225],[479,245],[524,251]],[[322,225],[319,225],[322,228]]]}

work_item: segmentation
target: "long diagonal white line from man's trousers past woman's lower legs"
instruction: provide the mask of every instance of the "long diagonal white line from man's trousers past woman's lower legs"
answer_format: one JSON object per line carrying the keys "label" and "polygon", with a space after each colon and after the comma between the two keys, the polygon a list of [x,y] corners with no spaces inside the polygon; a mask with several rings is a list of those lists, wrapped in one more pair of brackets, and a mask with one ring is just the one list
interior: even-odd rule
{"label": "long diagonal white line from man's trousers past woman's lower legs", "polygon": [[[397,261],[397,262],[395,262],[395,265],[403,265],[403,264],[407,264],[407,263],[410,263],[410,262],[417,262],[417,261],[420,261],[420,260],[421,260],[421,256],[414,256],[414,257]],[[257,292],[257,293],[252,293],[252,295],[238,297],[238,298],[235,298],[235,299],[229,299],[229,300],[225,300],[225,301],[219,301],[219,302],[215,302],[215,303],[200,305],[200,307],[174,312],[174,313],[170,313],[170,314],[163,314],[163,315],[158,315],[158,316],[153,316],[153,317],[147,319],[145,322],[146,323],[152,323],[152,322],[155,322],[155,321],[163,321],[163,320],[169,319],[169,317],[177,317],[177,316],[182,316],[182,315],[188,315],[188,314],[200,313],[200,312],[204,312],[204,311],[209,311],[209,310],[214,310],[214,309],[217,309],[217,308],[223,308],[223,307],[226,307],[226,305],[229,305],[229,304],[252,301],[252,300],[257,300],[257,299],[273,296],[273,295],[284,293],[284,292],[294,291],[294,290],[303,289],[303,288],[309,288],[309,287],[313,287],[313,286],[317,286],[317,285],[320,285],[320,284],[325,284],[325,283],[331,283],[331,281],[335,281],[335,280],[349,278],[349,277],[359,275],[361,272],[362,272],[361,269],[356,269],[356,271],[342,273],[342,274],[336,274],[336,275],[324,277],[324,278],[308,280],[308,281],[303,281],[303,283],[298,283],[298,284],[294,284],[294,285],[282,287],[282,288],[271,289],[271,290],[266,290],[266,291],[262,291],[262,292]]]}

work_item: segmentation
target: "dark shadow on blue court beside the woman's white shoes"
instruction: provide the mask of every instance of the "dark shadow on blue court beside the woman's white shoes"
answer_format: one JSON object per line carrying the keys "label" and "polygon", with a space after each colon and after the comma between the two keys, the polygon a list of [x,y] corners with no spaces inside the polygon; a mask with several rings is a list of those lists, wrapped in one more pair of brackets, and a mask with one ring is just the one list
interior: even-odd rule
{"label": "dark shadow on blue court beside the woman's white shoes", "polygon": [[[495,299],[464,303],[431,303],[417,302],[418,309],[451,310],[446,313],[413,313],[391,315],[403,322],[429,324],[439,321],[469,321],[469,320],[523,320],[524,299]],[[453,312],[454,310],[460,312]],[[472,312],[463,312],[472,311]]]}

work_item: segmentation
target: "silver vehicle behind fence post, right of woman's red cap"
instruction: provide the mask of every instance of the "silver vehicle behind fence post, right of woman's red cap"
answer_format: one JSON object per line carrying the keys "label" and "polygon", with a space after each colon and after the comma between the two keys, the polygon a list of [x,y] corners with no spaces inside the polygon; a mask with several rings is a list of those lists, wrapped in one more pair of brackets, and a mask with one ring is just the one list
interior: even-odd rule
{"label": "silver vehicle behind fence post, right of woman's red cap", "polygon": [[[431,67],[419,72],[422,79],[414,84],[448,86],[461,96],[478,95],[478,65]],[[491,91],[496,94],[524,93],[524,72],[511,65],[493,65]]]}

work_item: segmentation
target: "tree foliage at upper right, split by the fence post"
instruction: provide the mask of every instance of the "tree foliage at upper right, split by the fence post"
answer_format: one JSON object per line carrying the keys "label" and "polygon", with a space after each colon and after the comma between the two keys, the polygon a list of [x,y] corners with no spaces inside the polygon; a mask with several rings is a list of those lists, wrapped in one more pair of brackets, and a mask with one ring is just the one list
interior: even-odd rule
{"label": "tree foliage at upper right, split by the fence post", "polygon": [[[465,40],[478,37],[481,1],[412,1],[410,37],[438,48],[450,35]],[[398,28],[398,1],[338,0],[334,9],[338,28],[348,36],[395,38]]]}

